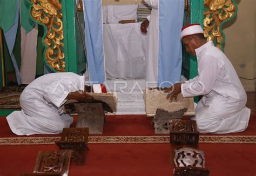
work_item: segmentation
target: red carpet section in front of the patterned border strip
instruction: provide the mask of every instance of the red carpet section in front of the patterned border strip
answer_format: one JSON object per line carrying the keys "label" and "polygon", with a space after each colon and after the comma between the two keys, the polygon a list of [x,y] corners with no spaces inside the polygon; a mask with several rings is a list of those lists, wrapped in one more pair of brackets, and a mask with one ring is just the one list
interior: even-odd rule
{"label": "red carpet section in front of the patterned border strip", "polygon": [[[169,144],[90,144],[86,165],[71,164],[76,175],[173,175]],[[255,145],[200,144],[210,175],[255,175]],[[57,150],[55,145],[0,146],[0,175],[32,172],[39,150]]]}

